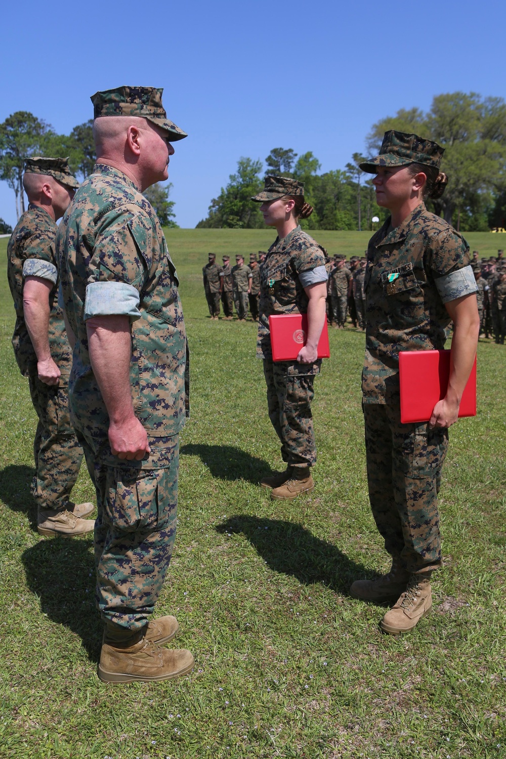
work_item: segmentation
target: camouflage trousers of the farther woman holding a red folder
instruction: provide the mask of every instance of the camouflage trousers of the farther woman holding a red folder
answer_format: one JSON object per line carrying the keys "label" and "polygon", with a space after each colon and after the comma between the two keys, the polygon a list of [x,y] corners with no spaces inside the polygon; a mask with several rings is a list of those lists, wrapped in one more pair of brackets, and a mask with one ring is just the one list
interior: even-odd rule
{"label": "camouflage trousers of the farther woman holding a red folder", "polygon": [[291,467],[312,467],[316,463],[311,401],[320,364],[321,360],[316,364],[263,360],[269,419],[281,440],[281,458]]}

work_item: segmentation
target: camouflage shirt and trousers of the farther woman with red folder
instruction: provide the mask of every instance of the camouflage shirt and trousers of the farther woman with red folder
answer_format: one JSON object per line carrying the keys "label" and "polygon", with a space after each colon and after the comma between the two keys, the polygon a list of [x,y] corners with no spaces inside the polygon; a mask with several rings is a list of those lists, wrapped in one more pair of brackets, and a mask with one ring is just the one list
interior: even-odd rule
{"label": "camouflage shirt and trousers of the farther woman with red folder", "polygon": [[307,313],[304,287],[326,279],[325,249],[300,225],[284,239],[275,239],[260,272],[256,357],[263,360],[269,418],[281,441],[281,458],[288,467],[301,470],[316,463],[311,402],[321,359],[313,364],[272,361],[269,316]]}

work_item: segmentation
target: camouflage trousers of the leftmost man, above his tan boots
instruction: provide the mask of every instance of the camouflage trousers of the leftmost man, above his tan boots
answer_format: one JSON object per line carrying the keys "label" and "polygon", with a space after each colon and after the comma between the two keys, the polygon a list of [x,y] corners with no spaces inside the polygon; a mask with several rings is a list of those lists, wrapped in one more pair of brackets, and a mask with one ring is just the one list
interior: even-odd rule
{"label": "camouflage trousers of the leftmost man, above his tan boots", "polygon": [[36,375],[28,379],[39,419],[33,440],[32,493],[39,509],[65,509],[83,459],[68,411],[68,375],[61,374],[58,387],[46,385]]}

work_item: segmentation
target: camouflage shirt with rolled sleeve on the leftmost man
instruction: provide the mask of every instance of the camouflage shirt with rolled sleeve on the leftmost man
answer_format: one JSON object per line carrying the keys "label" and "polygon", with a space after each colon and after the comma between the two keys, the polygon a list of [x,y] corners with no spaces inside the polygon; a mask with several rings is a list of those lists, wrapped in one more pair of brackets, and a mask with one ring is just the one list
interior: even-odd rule
{"label": "camouflage shirt with rolled sleeve on the leftmost man", "polygon": [[[37,373],[37,357],[24,322],[23,288],[25,276],[38,276],[52,282],[49,293],[49,348],[62,373],[71,370],[63,311],[58,307],[58,272],[52,244],[58,227],[49,213],[32,203],[14,227],[7,247],[7,279],[16,312],[12,347],[17,365],[24,376]],[[28,262],[28,263],[26,263]]]}

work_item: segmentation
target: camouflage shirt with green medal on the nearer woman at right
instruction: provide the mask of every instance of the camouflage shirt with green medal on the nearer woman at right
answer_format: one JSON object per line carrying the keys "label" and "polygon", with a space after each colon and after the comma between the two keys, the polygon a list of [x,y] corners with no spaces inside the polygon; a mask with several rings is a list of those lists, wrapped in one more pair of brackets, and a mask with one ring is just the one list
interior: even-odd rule
{"label": "camouflage shirt with green medal on the nearer woman at right", "polygon": [[[367,250],[364,403],[400,402],[399,351],[445,347],[451,319],[436,282],[469,264],[464,238],[423,203],[400,226],[389,227],[390,217]],[[470,288],[461,293],[454,289],[447,300]]]}

